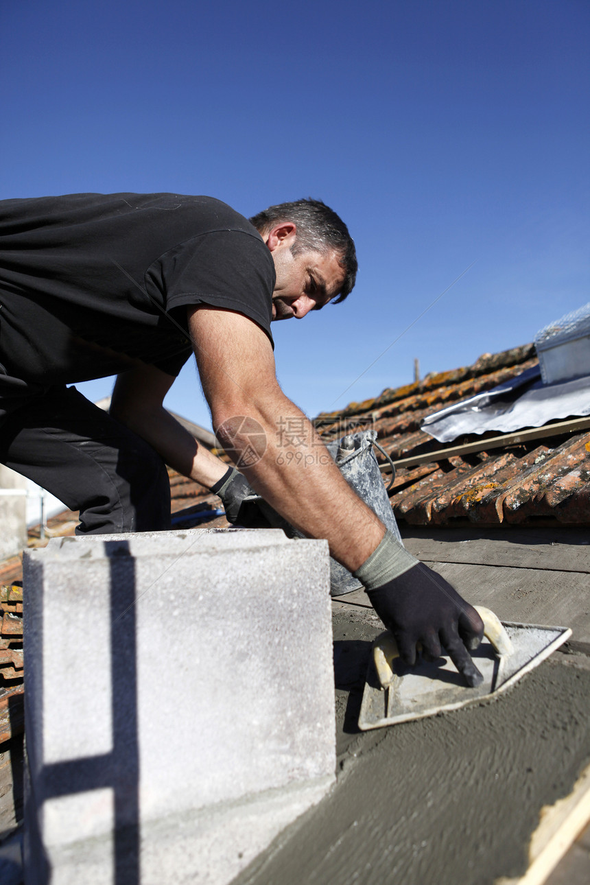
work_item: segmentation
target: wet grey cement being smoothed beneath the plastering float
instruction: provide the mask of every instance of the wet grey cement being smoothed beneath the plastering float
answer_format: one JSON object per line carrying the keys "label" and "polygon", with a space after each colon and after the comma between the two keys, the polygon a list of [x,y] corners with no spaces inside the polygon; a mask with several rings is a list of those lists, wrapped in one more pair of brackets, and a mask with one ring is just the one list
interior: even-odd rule
{"label": "wet grey cement being smoothed beneath the plastering float", "polygon": [[377,620],[334,616],[338,781],[235,885],[492,885],[590,758],[590,659],[557,652],[495,701],[367,733]]}

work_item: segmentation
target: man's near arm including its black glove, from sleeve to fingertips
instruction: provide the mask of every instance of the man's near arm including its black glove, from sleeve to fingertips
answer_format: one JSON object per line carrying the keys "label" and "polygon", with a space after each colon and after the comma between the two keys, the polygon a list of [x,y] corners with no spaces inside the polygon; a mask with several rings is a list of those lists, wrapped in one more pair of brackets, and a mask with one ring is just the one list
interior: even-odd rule
{"label": "man's near arm including its black glove, from sleeve to fingertips", "polygon": [[[251,446],[251,464],[241,469],[254,488],[305,534],[327,539],[333,557],[363,582],[407,664],[420,648],[438,657],[444,647],[467,684],[479,684],[468,650],[483,635],[478,612],[386,534],[349,488],[310,422],[280,390],[264,332],[234,312],[200,307],[188,315],[213,427],[236,460]],[[281,433],[289,421],[296,422],[298,444]]]}

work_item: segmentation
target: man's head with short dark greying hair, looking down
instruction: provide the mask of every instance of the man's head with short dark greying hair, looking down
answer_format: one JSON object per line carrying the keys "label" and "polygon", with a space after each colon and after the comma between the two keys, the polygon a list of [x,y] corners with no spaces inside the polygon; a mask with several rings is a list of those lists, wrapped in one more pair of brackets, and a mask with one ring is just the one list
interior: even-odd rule
{"label": "man's head with short dark greying hair, looking down", "polygon": [[355,243],[342,219],[321,200],[270,206],[250,222],[274,259],[272,319],[301,319],[349,295],[356,280]]}

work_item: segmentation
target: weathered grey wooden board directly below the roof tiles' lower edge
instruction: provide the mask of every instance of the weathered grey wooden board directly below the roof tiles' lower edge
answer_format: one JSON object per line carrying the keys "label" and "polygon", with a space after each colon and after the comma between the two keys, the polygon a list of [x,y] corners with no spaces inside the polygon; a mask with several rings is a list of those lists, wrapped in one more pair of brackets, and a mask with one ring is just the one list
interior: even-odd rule
{"label": "weathered grey wooden board directly below the roof tiles' lower edge", "polygon": [[[548,533],[550,537],[550,529]],[[534,543],[533,538],[534,535],[519,542],[513,540],[510,534],[508,537],[464,538],[449,542],[432,537],[406,537],[403,543],[410,553],[423,562],[457,562],[479,566],[590,573],[590,542],[587,540],[584,543],[569,544],[543,543],[542,540]]]}

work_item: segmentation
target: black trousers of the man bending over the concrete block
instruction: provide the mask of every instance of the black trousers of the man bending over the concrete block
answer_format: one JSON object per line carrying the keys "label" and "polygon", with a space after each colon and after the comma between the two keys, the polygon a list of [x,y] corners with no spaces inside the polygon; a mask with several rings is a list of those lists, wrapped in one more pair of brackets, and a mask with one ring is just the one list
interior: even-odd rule
{"label": "black trousers of the man bending over the concrete block", "polygon": [[0,463],[79,510],[78,535],[170,528],[162,458],[74,388],[27,396],[4,418]]}

